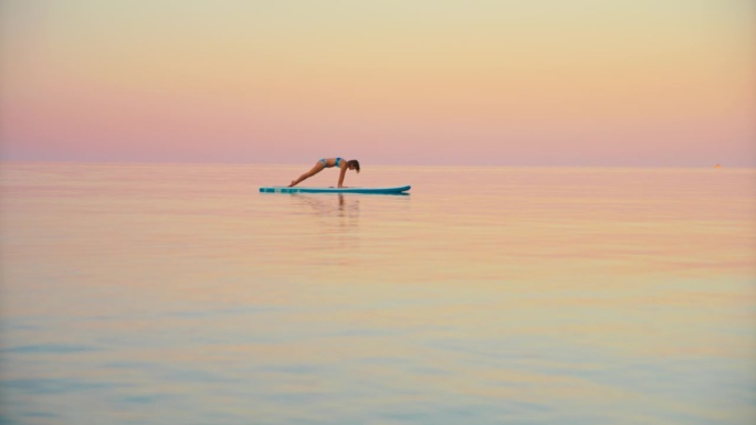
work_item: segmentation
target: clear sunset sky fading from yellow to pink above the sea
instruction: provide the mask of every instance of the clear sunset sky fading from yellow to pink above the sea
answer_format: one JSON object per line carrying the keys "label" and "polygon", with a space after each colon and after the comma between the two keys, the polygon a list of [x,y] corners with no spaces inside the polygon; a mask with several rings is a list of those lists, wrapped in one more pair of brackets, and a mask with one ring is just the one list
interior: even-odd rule
{"label": "clear sunset sky fading from yellow to pink above the sea", "polygon": [[3,0],[6,161],[756,167],[753,0]]}

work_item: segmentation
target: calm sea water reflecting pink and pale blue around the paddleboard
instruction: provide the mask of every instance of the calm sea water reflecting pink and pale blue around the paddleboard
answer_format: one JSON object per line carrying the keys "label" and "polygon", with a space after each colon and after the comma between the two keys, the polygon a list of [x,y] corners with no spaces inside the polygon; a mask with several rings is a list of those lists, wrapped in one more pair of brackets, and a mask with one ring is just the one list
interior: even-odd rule
{"label": "calm sea water reflecting pink and pale blue around the paddleboard", "polygon": [[756,170],[311,166],[2,163],[0,423],[756,423]]}

